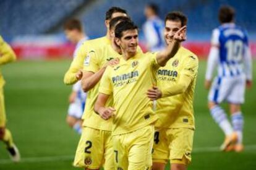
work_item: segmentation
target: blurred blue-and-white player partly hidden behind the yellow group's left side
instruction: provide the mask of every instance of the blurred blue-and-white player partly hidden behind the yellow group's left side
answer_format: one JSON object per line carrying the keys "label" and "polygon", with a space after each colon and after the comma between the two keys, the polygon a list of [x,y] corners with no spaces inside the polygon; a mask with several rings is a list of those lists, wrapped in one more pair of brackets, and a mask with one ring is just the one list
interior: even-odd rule
{"label": "blurred blue-and-white player partly hidden behind the yellow group's left side", "polygon": [[[64,23],[64,31],[69,41],[74,43],[75,51],[73,57],[77,56],[79,47],[88,40],[82,28],[82,23],[77,19],[70,19]],[[78,81],[73,85],[72,92],[69,95],[69,109],[67,114],[67,124],[77,133],[82,133],[82,115],[85,108],[86,93],[83,92],[81,82]]]}

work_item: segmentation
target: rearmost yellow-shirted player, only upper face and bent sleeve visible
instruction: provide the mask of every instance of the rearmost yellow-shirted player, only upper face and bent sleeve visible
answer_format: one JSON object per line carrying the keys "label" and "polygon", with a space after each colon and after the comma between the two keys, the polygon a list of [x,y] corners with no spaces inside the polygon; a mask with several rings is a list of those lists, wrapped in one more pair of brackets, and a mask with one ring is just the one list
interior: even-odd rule
{"label": "rearmost yellow-shirted player, only upper face and bent sleeve visible", "polygon": [[119,16],[127,16],[126,10],[121,9],[120,7],[111,7],[106,12],[106,20],[105,20],[105,26],[107,28],[106,35],[100,38],[85,41],[85,43],[83,43],[83,45],[80,46],[79,50],[77,51],[77,56],[74,57],[74,60],[70,64],[69,70],[67,70],[65,74],[65,77],[64,77],[65,84],[72,85],[76,83],[78,80],[82,79],[83,62],[85,61],[85,57],[91,51],[90,49],[109,45],[111,43],[110,42],[111,38],[109,35],[109,22],[114,17],[119,17]]}

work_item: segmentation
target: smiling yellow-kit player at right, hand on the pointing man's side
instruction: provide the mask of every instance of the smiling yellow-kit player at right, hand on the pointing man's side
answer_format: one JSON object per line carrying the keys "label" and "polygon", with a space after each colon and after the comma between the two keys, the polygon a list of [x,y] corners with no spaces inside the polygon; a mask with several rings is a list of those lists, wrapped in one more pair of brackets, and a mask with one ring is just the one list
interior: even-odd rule
{"label": "smiling yellow-kit player at right, hand on the pointing man's side", "polygon": [[[187,17],[181,12],[166,15],[164,38],[167,45],[186,24]],[[157,100],[156,114],[160,117],[155,125],[153,170],[163,170],[168,159],[172,170],[187,169],[191,161],[197,69],[197,56],[180,46],[166,66],[158,69],[157,87],[148,90],[148,97]]]}

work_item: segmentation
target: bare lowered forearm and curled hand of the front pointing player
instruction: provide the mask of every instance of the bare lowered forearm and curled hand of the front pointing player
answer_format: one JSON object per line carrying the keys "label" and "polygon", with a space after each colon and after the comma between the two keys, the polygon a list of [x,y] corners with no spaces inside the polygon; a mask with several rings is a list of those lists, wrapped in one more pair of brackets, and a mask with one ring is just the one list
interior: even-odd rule
{"label": "bare lowered forearm and curled hand of the front pointing player", "polygon": [[114,111],[116,111],[116,109],[112,107],[105,108],[105,104],[108,98],[109,98],[109,95],[99,93],[94,106],[94,111],[100,114],[100,116],[105,120],[108,120],[111,116],[113,116]]}

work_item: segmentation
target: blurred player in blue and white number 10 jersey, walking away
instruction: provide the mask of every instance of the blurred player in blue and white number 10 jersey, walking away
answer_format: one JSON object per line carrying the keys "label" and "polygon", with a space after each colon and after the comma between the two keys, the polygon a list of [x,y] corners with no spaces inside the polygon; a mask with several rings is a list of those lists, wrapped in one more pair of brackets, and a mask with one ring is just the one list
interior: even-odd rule
{"label": "blurred player in blue and white number 10 jersey, walking away", "polygon": [[[252,86],[252,61],[248,36],[244,29],[234,23],[235,11],[230,6],[220,8],[220,27],[213,30],[211,49],[208,56],[205,88],[210,88],[208,108],[215,122],[226,138],[221,150],[243,150],[242,130],[244,117],[241,104],[244,103],[245,87]],[[213,70],[218,66],[218,75],[211,84]],[[220,104],[229,103],[231,123]]]}

